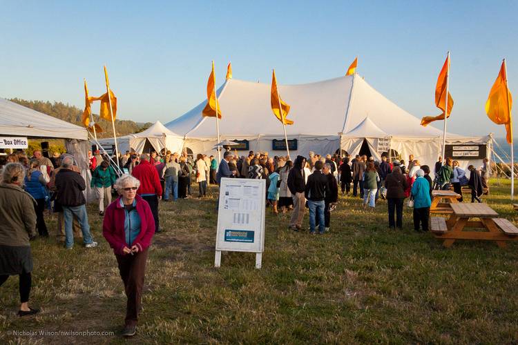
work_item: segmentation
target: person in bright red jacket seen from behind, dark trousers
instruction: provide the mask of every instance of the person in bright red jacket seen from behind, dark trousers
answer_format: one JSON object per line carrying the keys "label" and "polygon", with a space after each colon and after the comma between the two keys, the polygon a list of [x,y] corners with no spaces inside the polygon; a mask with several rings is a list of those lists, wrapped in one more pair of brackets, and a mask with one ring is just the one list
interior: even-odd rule
{"label": "person in bright red jacket seen from behind, dark trousers", "polygon": [[140,187],[137,194],[142,199],[148,201],[153,218],[155,219],[155,233],[160,233],[160,224],[158,221],[158,200],[162,199],[162,184],[155,166],[149,163],[149,157],[145,153],[140,155],[140,164],[133,168],[131,175],[140,181]]}

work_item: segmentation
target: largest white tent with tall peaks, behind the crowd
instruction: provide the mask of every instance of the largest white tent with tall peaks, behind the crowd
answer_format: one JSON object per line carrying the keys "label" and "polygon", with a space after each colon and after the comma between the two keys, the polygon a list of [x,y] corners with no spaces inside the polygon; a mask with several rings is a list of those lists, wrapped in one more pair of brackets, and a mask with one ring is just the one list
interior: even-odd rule
{"label": "largest white tent with tall peaks, behind the crowd", "polygon": [[[307,155],[314,151],[325,155],[340,148],[349,154],[360,152],[364,141],[370,155],[379,159],[387,150],[405,159],[413,154],[421,164],[433,166],[441,152],[443,132],[396,106],[374,90],[359,75],[338,77],[302,85],[278,86],[282,99],[291,106],[286,126],[288,139],[296,139],[291,155]],[[229,140],[247,141],[249,150],[275,150],[274,139],[283,139],[282,124],[270,108],[270,85],[238,79],[227,79],[217,90],[222,110],[220,135]],[[215,118],[202,117],[207,101],[166,124],[185,136],[185,146],[193,152],[213,154]],[[451,120],[450,120],[451,121]],[[463,137],[448,133],[447,144],[488,145],[489,136]],[[243,149],[243,148],[242,148]],[[459,160],[460,161],[460,160]],[[468,159],[462,166],[479,164]]]}

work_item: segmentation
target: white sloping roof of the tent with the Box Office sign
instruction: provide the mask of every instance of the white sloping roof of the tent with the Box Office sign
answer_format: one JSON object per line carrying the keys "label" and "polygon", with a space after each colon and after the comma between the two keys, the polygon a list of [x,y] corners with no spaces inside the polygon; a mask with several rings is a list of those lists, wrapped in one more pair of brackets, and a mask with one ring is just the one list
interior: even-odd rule
{"label": "white sloping roof of the tent with the Box Office sign", "polygon": [[0,98],[0,135],[87,140],[86,128]]}

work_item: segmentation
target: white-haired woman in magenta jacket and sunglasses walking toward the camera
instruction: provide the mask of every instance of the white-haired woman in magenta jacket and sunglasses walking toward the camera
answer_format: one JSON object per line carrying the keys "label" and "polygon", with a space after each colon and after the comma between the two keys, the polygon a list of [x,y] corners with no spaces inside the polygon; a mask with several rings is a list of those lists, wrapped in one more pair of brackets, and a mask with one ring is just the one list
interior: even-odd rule
{"label": "white-haired woman in magenta jacket and sunglasses walking toward the camera", "polygon": [[102,233],[113,248],[124,282],[128,304],[124,337],[135,335],[142,299],[148,247],[155,233],[155,220],[148,203],[137,195],[140,181],[122,175],[115,181],[118,197],[104,215]]}

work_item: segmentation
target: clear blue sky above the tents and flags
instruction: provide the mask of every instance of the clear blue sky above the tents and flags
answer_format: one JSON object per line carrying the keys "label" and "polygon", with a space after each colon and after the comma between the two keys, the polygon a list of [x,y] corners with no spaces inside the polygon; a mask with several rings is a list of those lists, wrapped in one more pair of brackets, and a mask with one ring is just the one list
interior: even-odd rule
{"label": "clear blue sky above the tents and flags", "polygon": [[[365,3],[364,3],[365,2]],[[0,97],[84,106],[104,92],[119,118],[171,121],[206,97],[228,61],[233,77],[281,84],[358,72],[417,117],[437,115],[434,87],[451,51],[448,130],[495,132],[483,106],[508,61],[518,99],[518,1],[0,1]],[[94,106],[94,111],[98,111]],[[514,111],[516,113],[516,110]],[[441,123],[442,124],[442,123]],[[441,126],[441,124],[434,126]]]}

